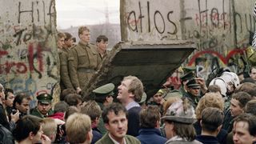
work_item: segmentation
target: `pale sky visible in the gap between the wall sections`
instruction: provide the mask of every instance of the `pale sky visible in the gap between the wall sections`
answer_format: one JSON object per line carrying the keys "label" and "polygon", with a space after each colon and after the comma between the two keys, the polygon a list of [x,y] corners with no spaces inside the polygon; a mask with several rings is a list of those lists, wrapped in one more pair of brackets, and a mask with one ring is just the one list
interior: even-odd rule
{"label": "pale sky visible in the gap between the wall sections", "polygon": [[56,0],[57,28],[94,25],[106,22],[120,23],[119,0]]}

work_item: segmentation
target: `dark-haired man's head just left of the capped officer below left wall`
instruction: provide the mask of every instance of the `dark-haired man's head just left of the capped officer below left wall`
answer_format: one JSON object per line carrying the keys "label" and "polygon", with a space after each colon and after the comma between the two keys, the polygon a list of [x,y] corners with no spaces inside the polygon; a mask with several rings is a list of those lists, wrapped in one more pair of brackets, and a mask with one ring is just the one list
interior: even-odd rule
{"label": "dark-haired man's head just left of the capped officer below left wall", "polygon": [[14,98],[14,108],[26,114],[30,110],[30,96],[26,93],[19,93]]}

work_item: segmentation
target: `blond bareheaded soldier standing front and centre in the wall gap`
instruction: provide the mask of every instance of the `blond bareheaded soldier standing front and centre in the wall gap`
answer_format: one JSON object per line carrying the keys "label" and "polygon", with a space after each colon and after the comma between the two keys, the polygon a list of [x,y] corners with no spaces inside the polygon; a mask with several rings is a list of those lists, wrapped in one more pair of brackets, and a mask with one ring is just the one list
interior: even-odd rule
{"label": "blond bareheaded soldier standing front and centre in the wall gap", "polygon": [[86,86],[86,83],[101,66],[97,48],[90,44],[90,30],[86,26],[80,26],[78,36],[80,42],[70,50],[68,58],[70,80],[77,93]]}

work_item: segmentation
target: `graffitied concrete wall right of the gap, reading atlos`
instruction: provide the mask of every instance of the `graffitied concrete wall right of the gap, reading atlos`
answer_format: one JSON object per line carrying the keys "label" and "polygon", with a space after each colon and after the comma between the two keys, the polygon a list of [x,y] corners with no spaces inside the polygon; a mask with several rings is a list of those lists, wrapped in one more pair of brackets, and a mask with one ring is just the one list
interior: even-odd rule
{"label": "graffitied concrete wall right of the gap, reading atlos", "polygon": [[122,40],[193,40],[197,50],[186,64],[201,66],[203,77],[216,66],[241,72],[253,9],[254,0],[122,0]]}

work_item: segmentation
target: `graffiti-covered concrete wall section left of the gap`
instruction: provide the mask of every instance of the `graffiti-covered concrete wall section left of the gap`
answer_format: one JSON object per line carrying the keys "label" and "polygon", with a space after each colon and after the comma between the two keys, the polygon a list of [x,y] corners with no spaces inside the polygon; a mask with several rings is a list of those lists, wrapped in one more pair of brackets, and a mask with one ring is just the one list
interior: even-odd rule
{"label": "graffiti-covered concrete wall section left of the gap", "polygon": [[16,93],[50,93],[58,82],[54,6],[54,0],[1,0],[0,82]]}

